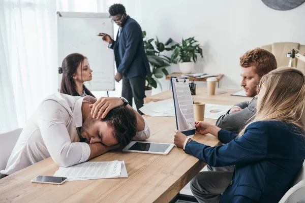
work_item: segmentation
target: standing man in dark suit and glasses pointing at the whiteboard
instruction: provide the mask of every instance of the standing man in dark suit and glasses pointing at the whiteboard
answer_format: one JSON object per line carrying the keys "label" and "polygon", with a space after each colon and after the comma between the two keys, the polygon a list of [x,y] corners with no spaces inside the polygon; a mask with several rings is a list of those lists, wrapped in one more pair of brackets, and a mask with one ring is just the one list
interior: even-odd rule
{"label": "standing man in dark suit and glasses pointing at the whiteboard", "polygon": [[123,79],[122,96],[132,106],[134,97],[138,112],[143,106],[145,97],[145,79],[150,74],[148,59],[144,50],[142,29],[140,25],[126,14],[125,7],[121,4],[114,4],[109,8],[112,22],[119,28],[116,40],[109,35],[102,33],[103,40],[109,43],[113,49],[117,73],[115,81]]}

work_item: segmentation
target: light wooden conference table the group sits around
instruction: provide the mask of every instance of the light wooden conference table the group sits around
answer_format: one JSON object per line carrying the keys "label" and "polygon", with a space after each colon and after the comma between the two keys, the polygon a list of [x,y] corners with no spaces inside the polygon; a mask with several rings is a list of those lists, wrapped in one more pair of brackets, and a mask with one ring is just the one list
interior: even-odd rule
{"label": "light wooden conference table the group sits around", "polygon": [[[195,101],[209,104],[234,105],[250,99],[230,96],[236,92],[208,96],[205,88],[198,88]],[[145,98],[145,101],[171,97],[171,91]],[[144,116],[150,127],[148,142],[173,143],[175,118]],[[216,120],[205,119],[210,123]],[[219,141],[211,136],[195,134],[197,142],[216,146]],[[0,179],[0,202],[168,202],[205,165],[197,158],[174,147],[168,155],[108,152],[90,161],[124,160],[128,178],[66,182],[63,185],[31,183],[38,175],[53,176],[58,170],[47,158],[23,170]]]}

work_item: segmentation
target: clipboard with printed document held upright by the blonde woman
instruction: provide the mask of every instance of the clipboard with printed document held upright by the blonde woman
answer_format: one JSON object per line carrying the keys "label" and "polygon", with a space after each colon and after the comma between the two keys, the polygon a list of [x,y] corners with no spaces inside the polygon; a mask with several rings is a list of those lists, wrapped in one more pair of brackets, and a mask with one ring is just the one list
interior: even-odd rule
{"label": "clipboard with printed document held upright by the blonde woman", "polygon": [[189,79],[184,77],[171,77],[170,79],[177,129],[186,136],[195,134],[194,106],[189,87]]}

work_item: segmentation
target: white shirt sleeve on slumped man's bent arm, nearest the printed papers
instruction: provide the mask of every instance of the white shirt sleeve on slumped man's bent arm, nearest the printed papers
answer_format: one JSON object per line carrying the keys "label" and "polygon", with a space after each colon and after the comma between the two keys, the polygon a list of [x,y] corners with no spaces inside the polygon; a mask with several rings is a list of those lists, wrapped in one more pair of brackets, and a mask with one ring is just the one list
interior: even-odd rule
{"label": "white shirt sleeve on slumped man's bent arm, nearest the printed papers", "polygon": [[[53,161],[68,167],[88,160],[90,147],[87,143],[71,142],[66,122],[69,113],[56,101],[44,101],[41,108],[44,110],[38,119],[38,125],[43,141]],[[50,108],[50,107],[55,107]]]}

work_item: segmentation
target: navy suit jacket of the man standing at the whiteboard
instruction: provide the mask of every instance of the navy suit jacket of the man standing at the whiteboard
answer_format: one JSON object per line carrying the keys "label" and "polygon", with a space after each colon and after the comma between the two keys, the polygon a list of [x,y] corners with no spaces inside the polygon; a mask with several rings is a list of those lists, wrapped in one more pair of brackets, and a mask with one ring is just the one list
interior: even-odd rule
{"label": "navy suit jacket of the man standing at the whiteboard", "polygon": [[126,78],[150,74],[140,25],[127,16],[120,36],[110,46],[114,51],[117,72]]}

